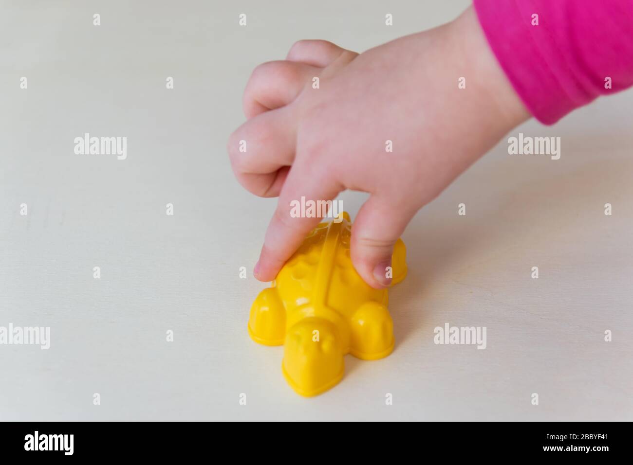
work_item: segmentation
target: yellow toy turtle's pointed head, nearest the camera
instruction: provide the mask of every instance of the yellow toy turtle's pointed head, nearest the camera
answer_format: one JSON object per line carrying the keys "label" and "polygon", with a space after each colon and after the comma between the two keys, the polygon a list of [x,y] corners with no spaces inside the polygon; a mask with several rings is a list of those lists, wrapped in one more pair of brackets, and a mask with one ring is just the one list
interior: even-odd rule
{"label": "yellow toy turtle's pointed head, nearest the camera", "polygon": [[341,381],[343,348],[334,325],[325,318],[309,317],[293,325],[285,338],[282,371],[301,395],[321,394]]}

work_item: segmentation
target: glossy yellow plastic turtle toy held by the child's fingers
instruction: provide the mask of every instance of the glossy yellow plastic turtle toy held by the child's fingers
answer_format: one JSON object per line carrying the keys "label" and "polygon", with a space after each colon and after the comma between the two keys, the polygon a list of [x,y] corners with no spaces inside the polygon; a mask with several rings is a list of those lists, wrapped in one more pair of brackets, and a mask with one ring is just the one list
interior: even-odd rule
{"label": "glossy yellow plastic turtle toy held by the child's fingers", "polygon": [[[321,394],[341,381],[345,354],[375,360],[394,347],[387,289],[370,287],[354,270],[351,226],[345,212],[316,226],[251,307],[251,338],[264,345],[284,344],[285,379],[304,396]],[[405,254],[398,239],[393,284],[406,275]]]}

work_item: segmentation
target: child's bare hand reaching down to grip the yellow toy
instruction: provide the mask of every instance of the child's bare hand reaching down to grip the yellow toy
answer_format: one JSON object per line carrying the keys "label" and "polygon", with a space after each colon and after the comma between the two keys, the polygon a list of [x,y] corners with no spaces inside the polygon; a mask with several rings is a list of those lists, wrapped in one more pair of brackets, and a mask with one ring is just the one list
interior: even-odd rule
{"label": "child's bare hand reaching down to grip the yellow toy", "polygon": [[360,55],[298,42],[286,61],[256,68],[244,112],[229,141],[235,175],[253,194],[279,195],[255,276],[273,280],[320,221],[292,218],[291,201],[353,189],[371,194],[354,221],[351,257],[373,287],[389,285],[393,245],[418,209],[529,117],[472,8]]}

